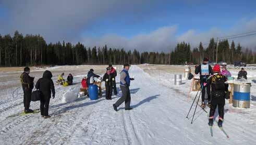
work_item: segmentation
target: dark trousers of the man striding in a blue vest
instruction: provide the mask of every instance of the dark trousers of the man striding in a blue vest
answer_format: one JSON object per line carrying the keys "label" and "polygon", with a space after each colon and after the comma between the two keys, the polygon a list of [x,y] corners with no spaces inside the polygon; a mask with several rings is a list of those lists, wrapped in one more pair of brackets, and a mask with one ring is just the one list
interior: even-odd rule
{"label": "dark trousers of the man striding in a blue vest", "polygon": [[130,108],[131,94],[128,86],[120,85],[122,96],[116,101],[116,107],[120,106],[125,101],[125,108]]}

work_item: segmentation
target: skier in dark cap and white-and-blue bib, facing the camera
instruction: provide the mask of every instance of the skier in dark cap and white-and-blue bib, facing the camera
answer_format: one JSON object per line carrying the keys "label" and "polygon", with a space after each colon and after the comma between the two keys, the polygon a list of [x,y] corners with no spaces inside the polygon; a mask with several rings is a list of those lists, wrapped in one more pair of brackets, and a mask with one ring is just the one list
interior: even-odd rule
{"label": "skier in dark cap and white-and-blue bib, facing the camera", "polygon": [[203,64],[196,65],[196,69],[194,70],[195,74],[200,74],[200,84],[201,84],[201,91],[202,91],[202,105],[201,107],[204,108],[204,97],[205,97],[205,88],[207,90],[207,95],[208,95],[208,104],[210,105],[211,103],[211,92],[210,92],[210,87],[209,85],[203,85],[206,83],[206,79],[210,76],[213,75],[213,70],[211,65],[208,64],[208,59],[204,58],[203,59]]}

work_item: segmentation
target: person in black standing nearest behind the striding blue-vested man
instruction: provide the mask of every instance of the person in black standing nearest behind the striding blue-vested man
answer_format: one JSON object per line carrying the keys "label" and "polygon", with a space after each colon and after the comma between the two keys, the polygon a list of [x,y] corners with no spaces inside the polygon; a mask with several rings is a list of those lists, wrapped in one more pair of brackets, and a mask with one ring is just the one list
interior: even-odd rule
{"label": "person in black standing nearest behind the striding blue-vested man", "polygon": [[113,83],[115,78],[114,74],[111,74],[111,68],[107,67],[107,72],[103,76],[103,81],[105,81],[105,88],[106,88],[106,99],[112,99],[112,90],[113,90]]}

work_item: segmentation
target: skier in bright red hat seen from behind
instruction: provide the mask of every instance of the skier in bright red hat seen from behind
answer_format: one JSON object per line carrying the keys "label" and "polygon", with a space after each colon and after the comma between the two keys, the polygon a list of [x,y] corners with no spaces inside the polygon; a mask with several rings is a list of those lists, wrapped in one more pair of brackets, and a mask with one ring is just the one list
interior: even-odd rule
{"label": "skier in bright red hat seen from behind", "polygon": [[224,106],[225,106],[225,95],[228,91],[228,84],[225,83],[227,78],[222,75],[221,67],[215,65],[213,67],[213,76],[210,76],[206,81],[211,88],[212,100],[209,114],[209,125],[213,125],[214,113],[218,106],[218,126],[222,127],[224,119]]}

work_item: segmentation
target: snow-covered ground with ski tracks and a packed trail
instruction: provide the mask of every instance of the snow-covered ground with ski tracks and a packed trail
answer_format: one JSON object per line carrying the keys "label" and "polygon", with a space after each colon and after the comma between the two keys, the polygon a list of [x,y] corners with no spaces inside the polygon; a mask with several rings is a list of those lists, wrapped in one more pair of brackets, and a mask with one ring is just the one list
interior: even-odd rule
{"label": "snow-covered ground with ski tracks and a packed trail", "polygon": [[[48,69],[54,76],[62,71],[72,72],[75,85],[68,88],[74,89],[80,87],[79,82],[90,67],[58,66]],[[105,67],[93,68],[97,74],[103,74]],[[118,71],[120,69],[118,66]],[[43,70],[34,70],[31,75],[39,78]],[[98,100],[82,97],[72,103],[62,103],[62,96],[68,88],[55,86],[56,97],[50,101],[50,119],[42,119],[40,113],[6,118],[23,109],[20,72],[0,72],[1,144],[255,144],[256,70],[248,70],[248,75],[251,75],[248,79],[252,82],[251,108],[225,105],[223,126],[230,139],[216,123],[211,137],[207,114],[200,108],[193,124],[190,123],[192,113],[189,120],[186,119],[195,92],[191,93],[191,99],[187,99],[191,81],[183,80],[182,85],[174,85],[173,74],[183,71],[182,66],[132,66],[130,75],[135,77],[135,81],[131,82],[130,90],[131,107],[134,109],[130,111],[124,110],[124,104],[118,112],[113,110],[112,104],[121,95],[119,84],[118,95],[112,96],[112,100],[105,100],[103,95]],[[39,103],[31,103],[31,109],[38,108]]]}

